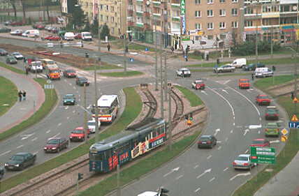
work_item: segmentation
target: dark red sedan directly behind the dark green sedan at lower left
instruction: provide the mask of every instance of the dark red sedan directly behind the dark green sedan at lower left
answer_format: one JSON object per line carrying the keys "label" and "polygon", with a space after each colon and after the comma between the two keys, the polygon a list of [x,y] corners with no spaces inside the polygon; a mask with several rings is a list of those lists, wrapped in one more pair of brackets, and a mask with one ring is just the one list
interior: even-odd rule
{"label": "dark red sedan directly behind the dark green sedan at lower left", "polygon": [[43,151],[45,153],[59,153],[62,149],[67,149],[68,148],[68,140],[63,137],[54,137],[50,138],[48,140],[47,144],[45,147],[43,147]]}

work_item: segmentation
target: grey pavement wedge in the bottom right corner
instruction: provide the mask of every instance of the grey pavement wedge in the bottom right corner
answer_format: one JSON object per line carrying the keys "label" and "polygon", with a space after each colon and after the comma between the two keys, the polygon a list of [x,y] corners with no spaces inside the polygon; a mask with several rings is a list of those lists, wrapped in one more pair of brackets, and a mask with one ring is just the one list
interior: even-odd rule
{"label": "grey pavement wedge in the bottom right corner", "polygon": [[260,188],[254,196],[299,195],[299,151],[282,171]]}

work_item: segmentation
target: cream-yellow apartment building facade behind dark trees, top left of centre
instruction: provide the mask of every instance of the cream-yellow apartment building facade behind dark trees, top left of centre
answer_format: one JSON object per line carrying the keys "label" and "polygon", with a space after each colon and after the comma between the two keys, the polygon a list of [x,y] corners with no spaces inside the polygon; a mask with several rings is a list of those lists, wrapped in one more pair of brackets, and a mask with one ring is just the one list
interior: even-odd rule
{"label": "cream-yellow apartment building facade behind dark trees, top left of centre", "polygon": [[97,18],[100,25],[107,24],[111,36],[119,37],[126,33],[126,1],[79,0],[79,3],[89,22]]}

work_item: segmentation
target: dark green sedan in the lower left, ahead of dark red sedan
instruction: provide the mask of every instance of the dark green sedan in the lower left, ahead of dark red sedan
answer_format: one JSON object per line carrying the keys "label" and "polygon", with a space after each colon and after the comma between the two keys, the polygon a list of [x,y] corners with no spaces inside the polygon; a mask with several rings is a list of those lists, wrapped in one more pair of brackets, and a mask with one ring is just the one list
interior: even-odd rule
{"label": "dark green sedan in the lower left, ahead of dark red sedan", "polygon": [[29,165],[34,165],[36,155],[31,153],[16,153],[15,156],[8,160],[4,165],[8,170],[22,170]]}

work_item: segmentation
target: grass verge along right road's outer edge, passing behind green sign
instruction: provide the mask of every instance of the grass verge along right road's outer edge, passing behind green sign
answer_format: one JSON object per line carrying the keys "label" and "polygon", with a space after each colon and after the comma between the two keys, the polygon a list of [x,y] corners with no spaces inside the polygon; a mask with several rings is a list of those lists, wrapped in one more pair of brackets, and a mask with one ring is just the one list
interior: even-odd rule
{"label": "grass verge along right road's outer edge, passing behind green sign", "polygon": [[[293,116],[293,103],[291,103],[291,99],[289,97],[278,98],[277,101],[284,107],[284,109],[289,114],[289,119]],[[298,114],[298,113],[297,113]],[[299,150],[299,142],[298,142],[298,130],[291,128],[289,133],[288,141],[286,142],[286,146],[284,146],[284,152],[281,151],[279,155],[276,157],[276,164],[272,165],[272,176],[275,176],[278,172],[280,172],[286,165],[290,163],[296,153]],[[265,183],[267,183],[270,179],[270,172],[265,172],[266,169],[270,169],[270,165],[265,167],[263,171],[258,173],[257,181],[254,176],[252,179],[247,181],[243,186],[235,190],[233,195],[242,196],[242,195],[254,195],[256,191],[261,188]]]}

